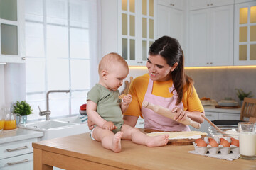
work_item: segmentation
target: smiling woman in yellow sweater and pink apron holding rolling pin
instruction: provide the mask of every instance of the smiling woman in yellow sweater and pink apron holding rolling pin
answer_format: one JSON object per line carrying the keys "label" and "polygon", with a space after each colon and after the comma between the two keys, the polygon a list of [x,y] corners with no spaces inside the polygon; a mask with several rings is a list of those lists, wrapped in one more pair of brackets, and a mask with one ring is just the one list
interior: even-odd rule
{"label": "smiling woman in yellow sweater and pink apron holding rolling pin", "polygon": [[[124,123],[134,127],[142,116],[144,128],[161,131],[190,131],[187,125],[175,121],[186,117],[203,123],[203,106],[193,80],[184,73],[183,51],[178,40],[168,36],[156,40],[149,48],[146,67],[149,73],[134,79],[129,88],[132,103],[124,113]],[[143,108],[143,101],[176,112],[174,120]]]}

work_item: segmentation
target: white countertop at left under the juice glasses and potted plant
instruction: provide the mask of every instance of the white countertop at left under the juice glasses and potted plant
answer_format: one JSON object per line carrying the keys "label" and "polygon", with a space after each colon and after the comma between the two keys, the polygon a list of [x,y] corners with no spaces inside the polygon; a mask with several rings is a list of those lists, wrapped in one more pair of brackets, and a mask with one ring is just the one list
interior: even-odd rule
{"label": "white countertop at left under the juice glasses and potted plant", "polygon": [[35,130],[27,130],[22,128],[17,128],[16,130],[3,130],[0,132],[0,145],[6,142],[14,142],[17,140],[26,140],[34,137],[42,137],[43,132]]}

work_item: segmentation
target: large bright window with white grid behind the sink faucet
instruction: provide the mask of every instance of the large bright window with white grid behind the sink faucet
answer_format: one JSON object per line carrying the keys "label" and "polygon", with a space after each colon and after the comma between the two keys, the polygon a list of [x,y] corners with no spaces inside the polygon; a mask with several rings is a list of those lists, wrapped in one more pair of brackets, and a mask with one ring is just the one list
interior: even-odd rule
{"label": "large bright window with white grid behind the sink faucet", "polygon": [[[100,24],[95,0],[26,0],[26,101],[28,120],[45,119],[46,93],[50,117],[78,114],[97,78]],[[92,48],[93,45],[93,48]]]}

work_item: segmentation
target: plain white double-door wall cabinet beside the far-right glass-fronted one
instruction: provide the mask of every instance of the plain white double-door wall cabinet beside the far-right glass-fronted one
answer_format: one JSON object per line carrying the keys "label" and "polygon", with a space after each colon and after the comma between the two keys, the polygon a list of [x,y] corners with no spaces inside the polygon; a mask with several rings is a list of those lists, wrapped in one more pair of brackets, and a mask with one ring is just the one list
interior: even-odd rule
{"label": "plain white double-door wall cabinet beside the far-right glass-fronted one", "polygon": [[233,65],[233,5],[189,11],[189,66]]}

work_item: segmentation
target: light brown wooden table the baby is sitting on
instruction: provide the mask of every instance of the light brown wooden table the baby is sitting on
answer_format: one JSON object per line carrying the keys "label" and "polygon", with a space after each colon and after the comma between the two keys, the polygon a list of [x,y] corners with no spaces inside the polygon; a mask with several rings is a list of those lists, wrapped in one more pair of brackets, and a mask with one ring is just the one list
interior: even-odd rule
{"label": "light brown wooden table the baby is sitting on", "polygon": [[193,145],[146,147],[122,140],[122,152],[104,149],[90,134],[33,143],[34,169],[256,169],[256,160],[227,161],[190,154]]}

